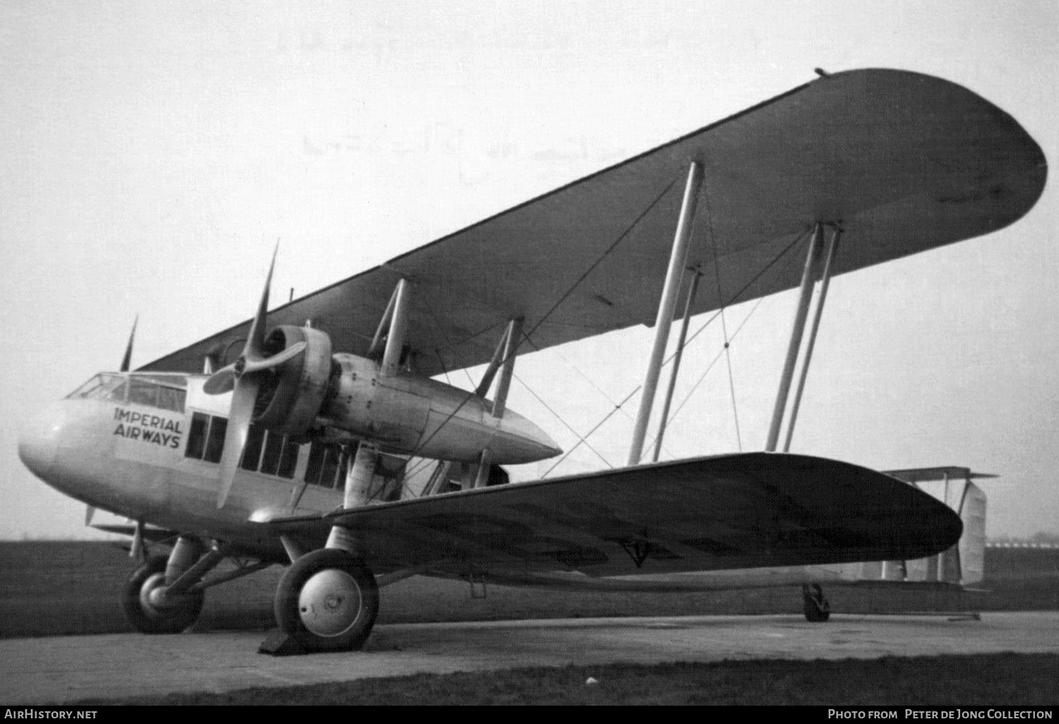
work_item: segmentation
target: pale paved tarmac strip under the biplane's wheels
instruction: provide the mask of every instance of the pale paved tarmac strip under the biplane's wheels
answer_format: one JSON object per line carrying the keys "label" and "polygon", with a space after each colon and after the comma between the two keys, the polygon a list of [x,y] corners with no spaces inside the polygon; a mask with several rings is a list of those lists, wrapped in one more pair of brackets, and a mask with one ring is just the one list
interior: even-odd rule
{"label": "pale paved tarmac strip under the biplane's wheels", "polygon": [[262,631],[0,640],[0,704],[220,692],[414,673],[614,662],[1059,653],[1059,612],[582,618],[377,626],[363,651],[274,657]]}

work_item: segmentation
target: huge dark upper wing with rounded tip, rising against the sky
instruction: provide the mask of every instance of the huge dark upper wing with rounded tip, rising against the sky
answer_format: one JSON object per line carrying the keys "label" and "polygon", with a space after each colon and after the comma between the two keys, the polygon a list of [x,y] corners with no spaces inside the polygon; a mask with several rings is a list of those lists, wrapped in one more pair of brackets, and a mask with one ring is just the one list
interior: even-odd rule
{"label": "huge dark upper wing with rounded tip, rising against the sky", "polygon": [[[800,265],[761,272],[815,221],[845,229],[841,274],[1005,227],[1046,176],[1019,124],[961,86],[837,73],[280,307],[269,323],[311,319],[336,350],[363,355],[405,277],[425,375],[487,362],[516,316],[537,348],[653,324],[692,160],[704,168],[699,215],[710,219],[695,224],[688,263],[715,278],[716,258],[723,285],[703,285],[695,313],[796,286]],[[248,327],[143,369],[198,372]]]}

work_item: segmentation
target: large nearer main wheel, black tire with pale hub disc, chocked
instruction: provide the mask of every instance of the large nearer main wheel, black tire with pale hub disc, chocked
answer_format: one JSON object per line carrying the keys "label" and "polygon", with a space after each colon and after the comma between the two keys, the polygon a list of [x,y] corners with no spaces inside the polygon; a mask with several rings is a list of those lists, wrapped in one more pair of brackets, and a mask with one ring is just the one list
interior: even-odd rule
{"label": "large nearer main wheel, black tire with pale hub disc, chocked", "polygon": [[378,612],[375,576],[360,559],[336,548],[299,558],[275,590],[280,630],[306,651],[359,649]]}

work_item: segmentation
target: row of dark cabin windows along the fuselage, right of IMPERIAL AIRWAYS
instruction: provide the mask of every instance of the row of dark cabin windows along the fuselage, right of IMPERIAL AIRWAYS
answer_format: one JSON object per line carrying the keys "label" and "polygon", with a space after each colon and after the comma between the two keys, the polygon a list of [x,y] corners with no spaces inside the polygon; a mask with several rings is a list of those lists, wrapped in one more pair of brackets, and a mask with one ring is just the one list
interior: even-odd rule
{"label": "row of dark cabin windows along the fuselage, right of IMPERIAL AIRWAYS", "polygon": [[[220,463],[227,432],[228,418],[193,413],[184,457]],[[291,442],[286,435],[251,424],[239,467],[266,475],[291,478],[298,467],[300,449],[301,446]],[[348,456],[342,454],[340,446],[313,440],[309,446],[309,459],[305,465],[305,482],[325,488],[341,488],[345,483],[347,467]]]}

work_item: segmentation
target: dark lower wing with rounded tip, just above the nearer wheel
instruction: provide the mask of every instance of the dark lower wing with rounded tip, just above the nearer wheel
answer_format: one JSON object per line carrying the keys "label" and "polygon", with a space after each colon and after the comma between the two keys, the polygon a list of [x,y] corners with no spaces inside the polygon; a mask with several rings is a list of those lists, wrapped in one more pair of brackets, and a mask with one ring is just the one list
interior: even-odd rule
{"label": "dark lower wing with rounded tip, just above the nearer wheel", "polygon": [[865,468],[746,453],[372,505],[268,524],[348,527],[376,572],[629,575],[915,559],[959,539],[947,506]]}

